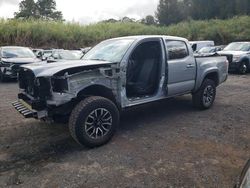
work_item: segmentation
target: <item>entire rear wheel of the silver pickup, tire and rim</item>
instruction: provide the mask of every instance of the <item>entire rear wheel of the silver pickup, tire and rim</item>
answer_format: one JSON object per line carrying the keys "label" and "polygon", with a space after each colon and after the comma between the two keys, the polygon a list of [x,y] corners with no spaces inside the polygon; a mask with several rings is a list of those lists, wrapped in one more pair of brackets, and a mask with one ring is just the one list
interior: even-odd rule
{"label": "entire rear wheel of the silver pickup, tire and rim", "polygon": [[213,80],[205,79],[200,89],[193,94],[195,107],[206,110],[213,106],[216,97],[216,86]]}

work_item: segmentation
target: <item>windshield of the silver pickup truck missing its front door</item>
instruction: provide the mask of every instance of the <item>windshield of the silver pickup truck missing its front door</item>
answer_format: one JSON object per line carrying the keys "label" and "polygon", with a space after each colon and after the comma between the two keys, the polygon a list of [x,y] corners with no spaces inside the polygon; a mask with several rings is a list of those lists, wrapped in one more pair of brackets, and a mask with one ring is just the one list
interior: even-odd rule
{"label": "windshield of the silver pickup truck missing its front door", "polygon": [[101,42],[92,48],[83,59],[120,62],[133,42],[134,39],[116,39]]}

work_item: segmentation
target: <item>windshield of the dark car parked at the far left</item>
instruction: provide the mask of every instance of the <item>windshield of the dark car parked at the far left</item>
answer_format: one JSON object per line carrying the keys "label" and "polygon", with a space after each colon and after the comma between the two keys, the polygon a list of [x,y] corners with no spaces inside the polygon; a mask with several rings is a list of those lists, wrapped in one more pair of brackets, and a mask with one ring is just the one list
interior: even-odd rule
{"label": "windshield of the dark car parked at the far left", "polygon": [[29,48],[3,48],[3,58],[35,58],[35,54]]}

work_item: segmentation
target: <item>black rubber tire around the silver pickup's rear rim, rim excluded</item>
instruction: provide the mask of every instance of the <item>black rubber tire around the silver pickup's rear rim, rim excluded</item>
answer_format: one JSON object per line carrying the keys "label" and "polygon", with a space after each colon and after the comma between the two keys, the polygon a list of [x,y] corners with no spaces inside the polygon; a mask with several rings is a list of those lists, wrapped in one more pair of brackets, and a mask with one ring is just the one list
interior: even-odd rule
{"label": "black rubber tire around the silver pickup's rear rim, rim excluded", "polygon": [[[210,104],[206,104],[204,101],[204,95],[205,95],[205,90],[207,88],[210,88],[213,90],[213,96],[212,99],[210,101]],[[200,89],[193,93],[193,105],[194,107],[200,109],[200,110],[206,110],[209,109],[213,106],[215,97],[216,97],[216,85],[215,82],[211,79],[205,79],[200,87]]]}

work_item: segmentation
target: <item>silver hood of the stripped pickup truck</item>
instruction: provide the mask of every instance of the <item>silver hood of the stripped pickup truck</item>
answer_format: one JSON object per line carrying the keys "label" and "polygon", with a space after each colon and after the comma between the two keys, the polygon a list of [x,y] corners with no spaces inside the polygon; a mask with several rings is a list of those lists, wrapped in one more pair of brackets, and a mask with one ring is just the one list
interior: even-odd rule
{"label": "silver hood of the stripped pickup truck", "polygon": [[[104,67],[109,64],[114,64],[108,61],[96,61],[96,60],[74,60],[66,62],[55,62],[55,63],[33,63],[23,65],[24,69],[29,69],[33,71],[36,77],[51,77],[56,73],[59,73],[63,70],[72,69],[72,68],[88,68],[90,66]],[[81,71],[81,69],[79,69]]]}

